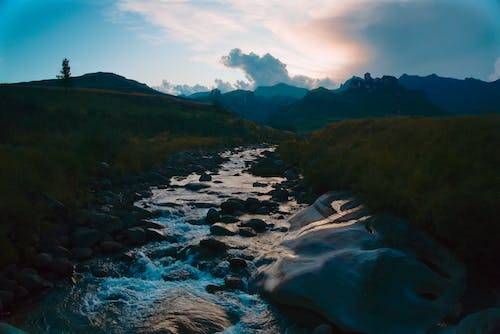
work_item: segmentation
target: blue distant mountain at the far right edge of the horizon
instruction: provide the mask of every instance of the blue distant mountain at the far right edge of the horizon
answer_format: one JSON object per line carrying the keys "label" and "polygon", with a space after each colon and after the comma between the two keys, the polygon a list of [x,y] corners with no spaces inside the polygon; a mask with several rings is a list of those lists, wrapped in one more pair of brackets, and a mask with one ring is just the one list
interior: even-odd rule
{"label": "blue distant mountain at the far right edge of the horizon", "polygon": [[500,112],[500,80],[485,82],[443,78],[435,74],[421,77],[404,74],[399,83],[420,90],[438,107],[453,114]]}

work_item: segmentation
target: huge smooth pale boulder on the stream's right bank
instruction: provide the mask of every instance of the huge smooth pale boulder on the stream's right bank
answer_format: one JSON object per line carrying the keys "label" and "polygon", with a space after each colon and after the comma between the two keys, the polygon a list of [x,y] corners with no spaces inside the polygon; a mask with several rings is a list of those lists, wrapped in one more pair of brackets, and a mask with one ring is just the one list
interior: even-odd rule
{"label": "huge smooth pale boulder on the stream's right bank", "polygon": [[259,268],[271,300],[366,334],[428,333],[457,315],[464,266],[448,250],[388,215],[332,223],[328,206],[291,219],[283,250],[267,255],[277,260]]}

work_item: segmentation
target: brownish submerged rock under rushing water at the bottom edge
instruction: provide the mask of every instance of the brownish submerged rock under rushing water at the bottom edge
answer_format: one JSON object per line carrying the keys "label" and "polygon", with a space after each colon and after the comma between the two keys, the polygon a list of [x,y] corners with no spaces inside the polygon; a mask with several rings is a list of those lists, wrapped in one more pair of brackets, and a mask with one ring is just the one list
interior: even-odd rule
{"label": "brownish submerged rock under rushing water at the bottom edge", "polygon": [[155,305],[154,314],[139,333],[221,333],[231,325],[228,315],[219,305],[193,294],[174,291]]}

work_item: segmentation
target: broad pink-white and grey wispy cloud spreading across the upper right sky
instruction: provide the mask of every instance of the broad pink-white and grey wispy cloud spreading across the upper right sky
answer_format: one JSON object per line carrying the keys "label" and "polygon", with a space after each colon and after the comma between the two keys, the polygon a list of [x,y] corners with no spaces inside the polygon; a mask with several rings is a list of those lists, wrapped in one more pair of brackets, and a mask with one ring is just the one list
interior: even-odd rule
{"label": "broad pink-white and grey wispy cloud spreading across the upper right sky", "polygon": [[500,3],[491,0],[117,1],[122,13],[146,19],[198,59],[239,47],[283,60],[290,76],[487,78],[500,52]]}

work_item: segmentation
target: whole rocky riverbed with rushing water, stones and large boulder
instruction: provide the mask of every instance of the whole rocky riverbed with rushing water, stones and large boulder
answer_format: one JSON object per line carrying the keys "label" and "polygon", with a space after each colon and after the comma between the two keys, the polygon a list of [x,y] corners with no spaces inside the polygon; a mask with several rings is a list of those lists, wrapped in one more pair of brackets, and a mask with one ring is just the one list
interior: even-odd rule
{"label": "whole rocky riverbed with rushing water, stones and large boulder", "polygon": [[120,179],[108,168],[95,205],[55,203],[71,228],[0,275],[7,322],[30,333],[498,333],[498,309],[465,317],[466,269],[446,248],[349,193],[315,199],[270,147],[185,152]]}

